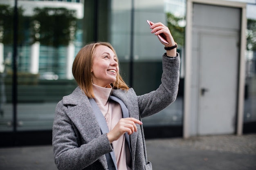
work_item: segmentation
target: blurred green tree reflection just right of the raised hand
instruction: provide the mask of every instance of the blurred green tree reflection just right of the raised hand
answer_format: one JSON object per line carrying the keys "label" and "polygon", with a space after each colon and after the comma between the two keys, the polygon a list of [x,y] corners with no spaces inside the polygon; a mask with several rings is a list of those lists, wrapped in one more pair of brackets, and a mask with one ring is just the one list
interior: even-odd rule
{"label": "blurred green tree reflection just right of the raised hand", "polygon": [[182,17],[175,17],[172,13],[166,13],[167,26],[177,44],[184,45],[185,21]]}

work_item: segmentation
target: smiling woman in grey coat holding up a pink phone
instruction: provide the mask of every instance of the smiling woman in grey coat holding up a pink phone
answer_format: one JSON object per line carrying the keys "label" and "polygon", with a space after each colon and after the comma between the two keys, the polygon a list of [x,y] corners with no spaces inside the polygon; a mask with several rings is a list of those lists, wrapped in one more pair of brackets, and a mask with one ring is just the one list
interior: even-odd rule
{"label": "smiling woman in grey coat holding up a pink phone", "polygon": [[53,124],[52,145],[59,170],[152,169],[141,118],[175,101],[180,56],[168,27],[150,24],[151,33],[164,34],[169,43],[160,41],[167,50],[162,56],[162,84],[156,91],[137,96],[125,84],[109,43],[88,44],[76,55],[72,72],[78,87],[58,102]]}

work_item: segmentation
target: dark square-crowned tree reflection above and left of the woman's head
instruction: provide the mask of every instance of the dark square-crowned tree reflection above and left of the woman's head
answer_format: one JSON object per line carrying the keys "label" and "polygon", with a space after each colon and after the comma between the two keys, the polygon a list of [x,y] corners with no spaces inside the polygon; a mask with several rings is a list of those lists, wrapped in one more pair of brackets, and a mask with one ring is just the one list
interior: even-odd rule
{"label": "dark square-crowned tree reflection above and left of the woman's head", "polygon": [[76,11],[65,8],[35,8],[32,18],[32,42],[58,47],[74,40]]}

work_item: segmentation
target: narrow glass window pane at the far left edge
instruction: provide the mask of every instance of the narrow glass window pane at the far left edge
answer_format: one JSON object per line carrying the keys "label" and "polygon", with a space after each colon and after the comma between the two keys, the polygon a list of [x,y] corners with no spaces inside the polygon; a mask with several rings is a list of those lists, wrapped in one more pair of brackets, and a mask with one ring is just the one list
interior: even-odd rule
{"label": "narrow glass window pane at the far left edge", "polygon": [[13,11],[0,2],[0,132],[13,131]]}

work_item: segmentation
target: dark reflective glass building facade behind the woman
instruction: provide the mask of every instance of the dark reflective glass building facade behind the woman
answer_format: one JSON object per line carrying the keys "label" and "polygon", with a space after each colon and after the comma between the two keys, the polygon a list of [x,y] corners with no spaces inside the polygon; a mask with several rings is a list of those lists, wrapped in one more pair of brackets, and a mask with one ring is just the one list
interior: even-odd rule
{"label": "dark reflective glass building facade behind the woman", "polygon": [[[0,146],[51,144],[55,106],[76,88],[72,62],[89,42],[114,46],[121,75],[137,95],[157,89],[164,46],[146,20],[169,27],[181,67],[176,101],[143,119],[145,137],[182,137],[186,0],[0,0],[0,8]],[[256,122],[256,19],[248,19],[254,27],[248,31],[245,132]]]}

